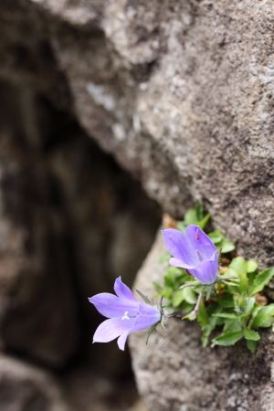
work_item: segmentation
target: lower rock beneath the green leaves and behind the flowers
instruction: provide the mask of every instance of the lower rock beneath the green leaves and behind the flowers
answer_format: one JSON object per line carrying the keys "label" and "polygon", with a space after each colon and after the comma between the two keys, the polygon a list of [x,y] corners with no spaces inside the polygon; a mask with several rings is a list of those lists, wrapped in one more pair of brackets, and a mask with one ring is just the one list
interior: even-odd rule
{"label": "lower rock beneath the green leaves and behind the flowers", "polygon": [[[152,281],[162,282],[161,233],[139,271],[134,288],[153,296]],[[263,332],[256,354],[245,342],[203,348],[195,322],[170,319],[167,332],[130,337],[138,388],[150,410],[271,411],[274,404],[274,334]]]}

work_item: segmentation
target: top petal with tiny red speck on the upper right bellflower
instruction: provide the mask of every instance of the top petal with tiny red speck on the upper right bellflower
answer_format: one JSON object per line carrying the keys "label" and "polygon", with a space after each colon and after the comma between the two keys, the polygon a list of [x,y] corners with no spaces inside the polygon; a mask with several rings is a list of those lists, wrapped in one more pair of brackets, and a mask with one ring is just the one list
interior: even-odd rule
{"label": "top petal with tiny red speck on the upper right bellflower", "polygon": [[[185,229],[185,234],[188,239],[189,246],[194,250],[194,252],[198,251],[203,259],[212,258],[216,251],[216,247],[200,227],[188,226]],[[199,263],[199,258],[196,257],[195,261],[196,264]]]}

